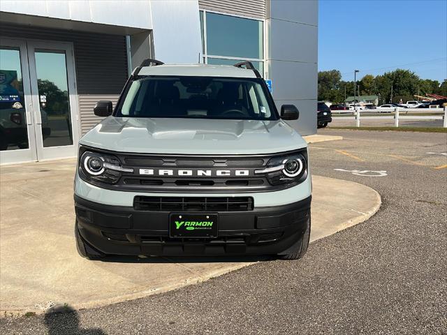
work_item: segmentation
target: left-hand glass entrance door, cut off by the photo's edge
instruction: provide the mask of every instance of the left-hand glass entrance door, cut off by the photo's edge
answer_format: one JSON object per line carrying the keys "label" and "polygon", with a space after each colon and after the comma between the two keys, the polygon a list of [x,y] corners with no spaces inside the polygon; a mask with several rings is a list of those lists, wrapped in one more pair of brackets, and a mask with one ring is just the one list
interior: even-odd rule
{"label": "left-hand glass entrance door, cut off by the photo's edge", "polygon": [[0,163],[36,161],[27,45],[0,38]]}

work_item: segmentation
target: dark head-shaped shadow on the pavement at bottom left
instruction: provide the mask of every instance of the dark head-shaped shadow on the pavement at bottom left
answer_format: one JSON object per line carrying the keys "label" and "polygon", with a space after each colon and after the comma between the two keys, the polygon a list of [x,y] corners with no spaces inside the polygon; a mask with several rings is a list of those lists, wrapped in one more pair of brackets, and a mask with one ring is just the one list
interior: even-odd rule
{"label": "dark head-shaped shadow on the pavement at bottom left", "polygon": [[70,306],[64,305],[52,313],[45,314],[44,323],[48,335],[105,335],[99,328],[83,329],[79,327],[79,315]]}

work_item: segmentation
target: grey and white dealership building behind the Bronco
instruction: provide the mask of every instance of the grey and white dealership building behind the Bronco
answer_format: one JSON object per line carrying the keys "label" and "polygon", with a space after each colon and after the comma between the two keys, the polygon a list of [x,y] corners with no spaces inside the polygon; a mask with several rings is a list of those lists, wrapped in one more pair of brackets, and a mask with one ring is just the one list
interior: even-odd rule
{"label": "grey and white dealership building behind the Bronco", "polygon": [[76,156],[143,59],[251,61],[316,133],[315,0],[0,1],[1,163]]}

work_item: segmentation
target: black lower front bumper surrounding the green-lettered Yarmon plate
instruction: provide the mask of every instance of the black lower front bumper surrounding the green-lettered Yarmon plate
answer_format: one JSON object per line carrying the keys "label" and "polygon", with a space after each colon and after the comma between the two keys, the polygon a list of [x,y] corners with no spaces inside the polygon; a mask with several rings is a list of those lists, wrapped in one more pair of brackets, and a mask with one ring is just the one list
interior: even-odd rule
{"label": "black lower front bumper surrounding the green-lettered Yarmon plate", "polygon": [[219,236],[171,238],[169,212],[141,211],[128,206],[91,202],[75,195],[82,239],[112,255],[268,255],[293,246],[310,220],[311,196],[252,211],[221,211]]}

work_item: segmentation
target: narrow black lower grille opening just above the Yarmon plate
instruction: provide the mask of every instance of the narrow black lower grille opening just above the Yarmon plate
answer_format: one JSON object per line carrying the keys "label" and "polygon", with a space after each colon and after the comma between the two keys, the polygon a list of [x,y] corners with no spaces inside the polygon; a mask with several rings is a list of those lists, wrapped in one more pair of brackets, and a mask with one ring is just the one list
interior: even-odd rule
{"label": "narrow black lower grille opening just above the Yarmon plate", "polygon": [[251,197],[147,197],[133,198],[137,211],[252,211]]}

